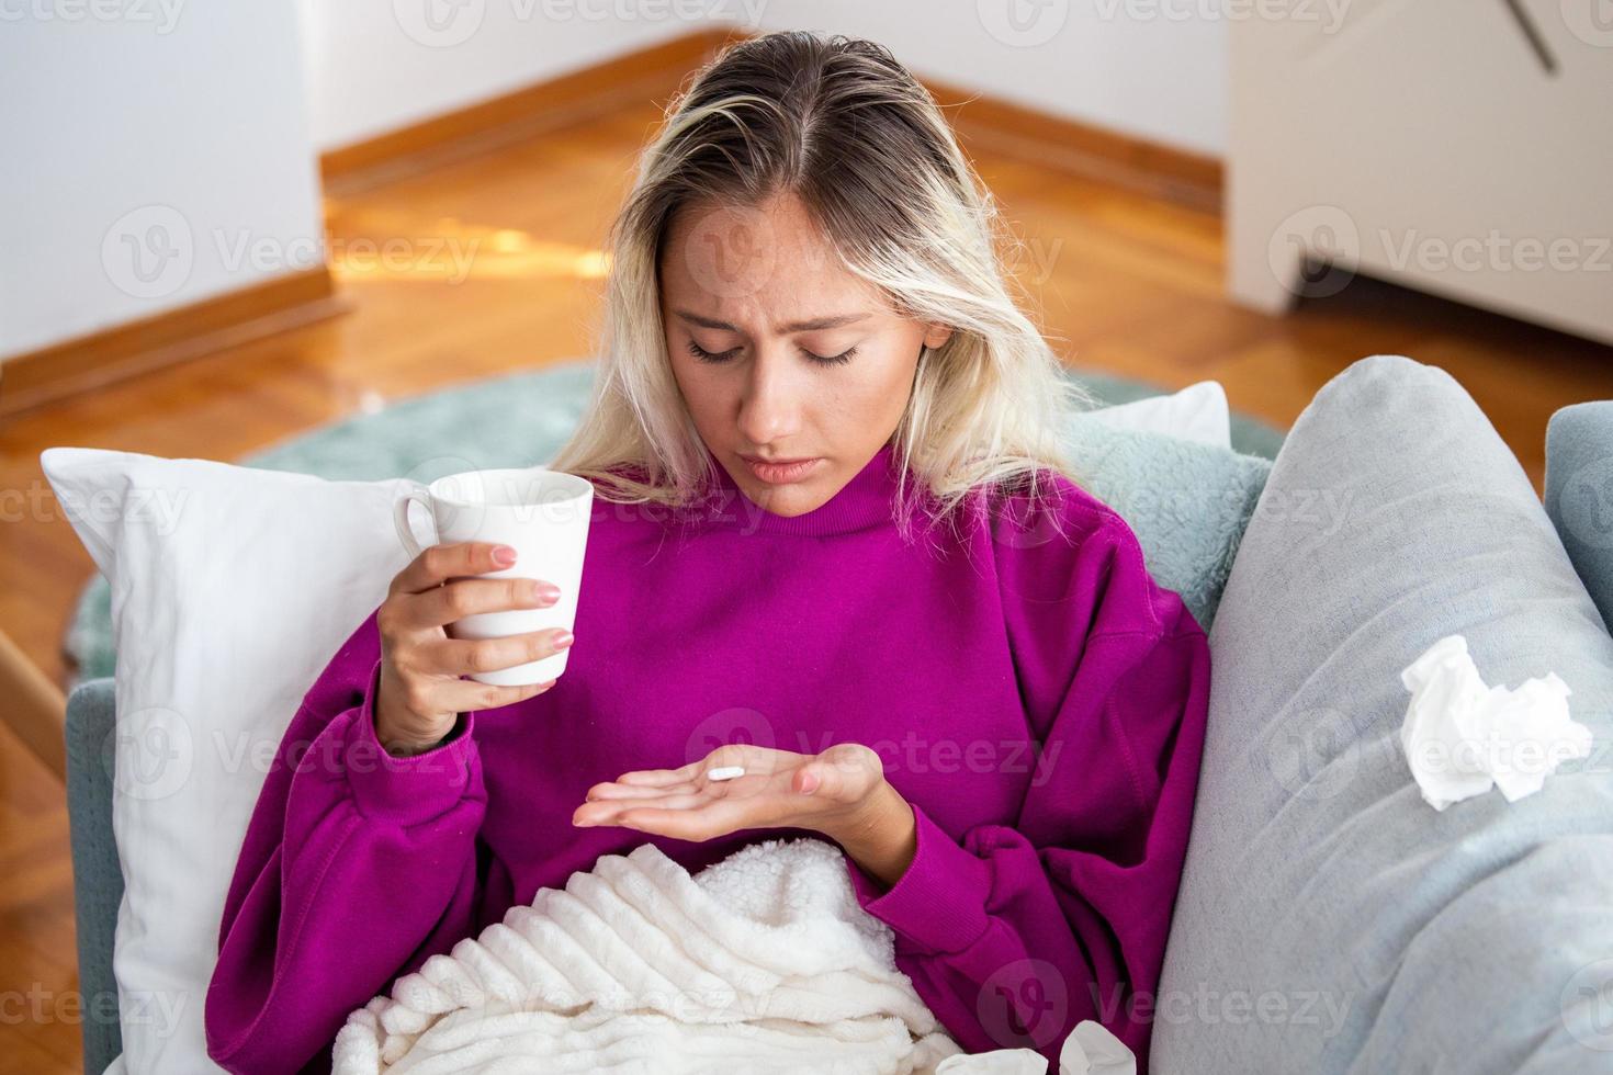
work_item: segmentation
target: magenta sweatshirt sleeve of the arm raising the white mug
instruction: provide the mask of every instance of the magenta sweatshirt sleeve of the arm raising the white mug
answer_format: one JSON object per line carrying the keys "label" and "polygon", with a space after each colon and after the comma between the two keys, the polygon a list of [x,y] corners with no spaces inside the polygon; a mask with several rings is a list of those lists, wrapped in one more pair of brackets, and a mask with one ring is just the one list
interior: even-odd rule
{"label": "magenta sweatshirt sleeve of the arm raising the white mug", "polygon": [[347,1015],[469,935],[486,793],[474,714],[394,757],[376,738],[374,612],[306,693],[253,807],[206,994],[231,1072],[329,1065]]}

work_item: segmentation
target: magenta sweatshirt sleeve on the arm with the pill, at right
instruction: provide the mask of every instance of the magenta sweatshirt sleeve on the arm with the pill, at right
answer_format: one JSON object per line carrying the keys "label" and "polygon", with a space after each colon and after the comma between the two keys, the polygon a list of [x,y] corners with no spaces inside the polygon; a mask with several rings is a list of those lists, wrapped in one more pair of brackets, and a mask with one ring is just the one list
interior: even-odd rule
{"label": "magenta sweatshirt sleeve on the arm with the pill, at right", "polygon": [[1031,1048],[1058,1070],[1069,1030],[1107,1027],[1147,1072],[1153,1001],[1187,851],[1210,648],[1118,516],[1079,554],[1000,556],[1008,640],[1039,745],[1015,824],[948,833],[913,803],[913,862],[884,890],[902,969],[969,1052]]}

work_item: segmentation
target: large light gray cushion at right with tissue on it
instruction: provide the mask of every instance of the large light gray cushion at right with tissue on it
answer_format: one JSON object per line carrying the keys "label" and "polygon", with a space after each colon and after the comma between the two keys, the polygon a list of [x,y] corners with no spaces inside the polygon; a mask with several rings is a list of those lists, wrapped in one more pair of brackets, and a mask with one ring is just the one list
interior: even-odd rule
{"label": "large light gray cushion at right with tissue on it", "polygon": [[[1489,685],[1561,675],[1590,757],[1428,806],[1400,670],[1447,633]],[[1210,648],[1153,1070],[1613,1070],[1613,640],[1455,379],[1379,355],[1316,395]]]}

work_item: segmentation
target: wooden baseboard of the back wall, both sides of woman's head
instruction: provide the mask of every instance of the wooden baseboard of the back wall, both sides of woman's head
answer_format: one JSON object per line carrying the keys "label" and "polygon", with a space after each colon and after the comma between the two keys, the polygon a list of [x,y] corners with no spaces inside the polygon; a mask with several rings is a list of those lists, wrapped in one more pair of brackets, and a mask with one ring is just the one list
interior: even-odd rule
{"label": "wooden baseboard of the back wall, both sides of woman's head", "polygon": [[[740,27],[700,31],[598,66],[495,97],[469,108],[331,150],[321,156],[326,190],[345,193],[602,114],[627,102],[665,97],[724,44],[753,37]],[[960,139],[992,153],[1052,164],[1207,213],[1221,213],[1223,168],[1189,153],[1094,124],[994,100],[923,79]]]}

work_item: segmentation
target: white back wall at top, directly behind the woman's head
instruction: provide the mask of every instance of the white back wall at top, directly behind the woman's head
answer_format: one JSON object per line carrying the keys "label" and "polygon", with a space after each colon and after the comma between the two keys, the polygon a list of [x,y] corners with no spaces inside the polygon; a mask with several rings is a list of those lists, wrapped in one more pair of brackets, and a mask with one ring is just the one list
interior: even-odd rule
{"label": "white back wall at top, directly behind the woman's head", "polygon": [[302,2],[321,150],[713,23],[871,37],[921,76],[1187,150],[1226,143],[1218,0]]}

